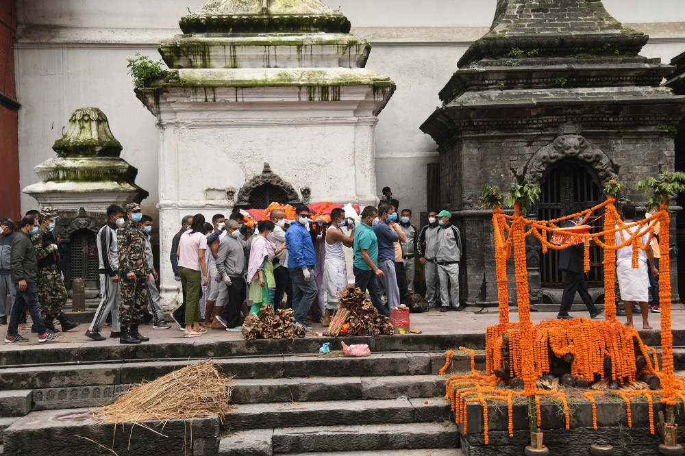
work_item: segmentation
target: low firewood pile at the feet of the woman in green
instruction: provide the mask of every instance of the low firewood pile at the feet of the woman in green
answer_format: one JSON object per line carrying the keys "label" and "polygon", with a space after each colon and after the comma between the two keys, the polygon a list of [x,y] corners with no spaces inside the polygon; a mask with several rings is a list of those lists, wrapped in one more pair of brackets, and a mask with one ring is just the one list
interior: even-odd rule
{"label": "low firewood pile at the feet of the woman in green", "polygon": [[251,339],[303,338],[306,331],[292,316],[292,309],[278,309],[273,313],[271,304],[264,304],[257,314],[249,314],[242,323],[242,335]]}

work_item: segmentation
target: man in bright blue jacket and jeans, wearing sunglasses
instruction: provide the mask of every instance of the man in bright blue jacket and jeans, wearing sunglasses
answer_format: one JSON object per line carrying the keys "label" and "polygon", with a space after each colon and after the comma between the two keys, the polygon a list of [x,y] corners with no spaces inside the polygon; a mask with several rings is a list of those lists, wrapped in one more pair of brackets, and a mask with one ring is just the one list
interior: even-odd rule
{"label": "man in bright blue jacket and jeans, wearing sunglasses", "polygon": [[304,318],[316,295],[319,294],[314,277],[316,253],[312,236],[307,231],[309,207],[298,205],[295,213],[297,218],[286,231],[288,273],[292,282],[292,310],[295,312],[295,320],[305,329],[309,329],[304,324]]}

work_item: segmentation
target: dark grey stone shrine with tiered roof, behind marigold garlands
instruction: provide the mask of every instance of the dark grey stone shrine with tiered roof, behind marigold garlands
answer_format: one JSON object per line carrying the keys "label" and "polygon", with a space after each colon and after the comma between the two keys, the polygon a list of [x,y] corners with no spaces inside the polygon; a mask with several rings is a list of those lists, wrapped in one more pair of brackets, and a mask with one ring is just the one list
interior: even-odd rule
{"label": "dark grey stone shrine with tiered roof, behind marigold garlands", "polygon": [[[638,55],[648,38],[623,27],[601,1],[497,1],[490,31],[464,53],[440,91],[443,105],[421,126],[438,142],[440,208],[453,211],[465,239],[462,301],[497,305],[482,183],[505,191],[524,178],[539,185],[542,199],[529,214],[550,219],[601,202],[612,175],[644,209],[637,181],[656,175],[658,164],[673,170],[671,129],[684,98],[660,86],[673,66]],[[675,223],[671,229],[675,240]],[[588,286],[601,302],[601,251],[595,246],[590,255]],[[558,307],[557,264],[557,251],[527,245],[532,308]],[[671,281],[678,299],[675,274]]]}

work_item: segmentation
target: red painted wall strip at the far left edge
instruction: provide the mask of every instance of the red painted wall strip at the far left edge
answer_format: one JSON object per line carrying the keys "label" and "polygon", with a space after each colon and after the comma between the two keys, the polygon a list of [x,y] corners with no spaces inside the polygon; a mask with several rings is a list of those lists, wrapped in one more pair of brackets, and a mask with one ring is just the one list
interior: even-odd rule
{"label": "red painted wall strip at the far left edge", "polygon": [[14,82],[15,0],[0,0],[0,218],[17,220],[19,197],[18,117]]}

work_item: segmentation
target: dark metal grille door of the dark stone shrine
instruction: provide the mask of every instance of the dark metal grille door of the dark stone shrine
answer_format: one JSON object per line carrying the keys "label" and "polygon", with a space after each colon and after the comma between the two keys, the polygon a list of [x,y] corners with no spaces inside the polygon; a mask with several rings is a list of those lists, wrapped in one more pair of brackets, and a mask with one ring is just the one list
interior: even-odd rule
{"label": "dark metal grille door of the dark stone shrine", "polygon": [[[573,214],[598,205],[603,200],[595,173],[575,161],[556,164],[545,176],[541,190],[538,203],[539,220]],[[603,214],[603,209],[593,212],[588,221]],[[603,227],[603,218],[591,225]],[[594,242],[590,242],[590,272],[586,276],[588,287],[603,286],[602,260],[601,249]],[[540,280],[543,287],[561,288],[563,286],[564,278],[559,270],[558,250],[549,249],[545,254],[540,253]]]}

